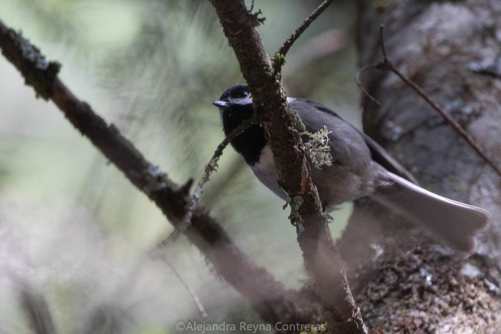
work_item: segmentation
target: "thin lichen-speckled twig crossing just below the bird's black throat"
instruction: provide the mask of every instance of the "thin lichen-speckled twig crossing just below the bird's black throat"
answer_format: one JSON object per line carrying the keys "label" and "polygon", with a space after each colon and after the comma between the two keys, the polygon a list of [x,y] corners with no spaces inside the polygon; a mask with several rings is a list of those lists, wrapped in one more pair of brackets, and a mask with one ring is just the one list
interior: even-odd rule
{"label": "thin lichen-speckled twig crossing just below the bird's black throat", "polygon": [[186,205],[186,210],[184,212],[184,216],[181,223],[174,229],[174,231],[172,231],[172,233],[166,239],[162,240],[157,245],[156,247],[157,250],[167,247],[169,244],[177,240],[177,238],[179,237],[179,235],[181,235],[181,233],[184,233],[184,231],[186,231],[186,228],[188,228],[188,226],[191,224],[191,218],[193,217],[193,212],[195,211],[196,205],[198,204],[200,196],[202,195],[203,186],[209,180],[209,177],[212,174],[212,172],[216,170],[217,161],[221,157],[222,151],[226,148],[226,146],[228,146],[229,143],[231,143],[233,139],[241,135],[245,130],[247,130],[249,127],[255,124],[257,124],[257,120],[254,118],[246,120],[245,122],[240,124],[236,129],[231,131],[217,146],[216,150],[214,151],[214,154],[212,155],[212,158],[209,160],[208,164],[205,165],[205,171],[203,172],[200,181],[198,181],[195,190],[193,190],[193,194],[191,195],[188,204]]}

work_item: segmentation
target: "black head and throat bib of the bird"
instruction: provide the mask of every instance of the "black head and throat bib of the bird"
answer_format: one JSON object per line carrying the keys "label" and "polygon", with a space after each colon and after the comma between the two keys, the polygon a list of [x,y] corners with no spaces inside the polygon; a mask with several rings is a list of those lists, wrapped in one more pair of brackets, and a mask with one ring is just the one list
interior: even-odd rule
{"label": "black head and throat bib of the bird", "polygon": [[[222,127],[226,136],[254,114],[252,97],[247,85],[228,88],[222,93],[219,101],[214,101],[213,104],[219,107]],[[231,141],[231,146],[243,156],[249,165],[254,165],[259,161],[261,150],[265,145],[265,132],[260,124],[249,127]]]}

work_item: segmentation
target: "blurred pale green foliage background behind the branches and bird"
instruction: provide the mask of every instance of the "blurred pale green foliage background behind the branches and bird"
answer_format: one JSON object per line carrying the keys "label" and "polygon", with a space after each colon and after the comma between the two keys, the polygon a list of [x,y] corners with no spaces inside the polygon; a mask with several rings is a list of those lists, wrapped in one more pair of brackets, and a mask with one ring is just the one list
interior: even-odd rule
{"label": "blurred pale green foliage background behind the branches and bird", "polygon": [[[321,3],[256,0],[270,54]],[[250,7],[250,2],[248,2]],[[335,2],[293,46],[289,96],[307,97],[360,124],[354,83],[355,5]],[[208,1],[0,0],[0,19],[21,29],[62,80],[178,183],[198,180],[223,139],[212,106],[242,83]],[[201,204],[235,243],[289,287],[307,278],[288,211],[231,148]],[[350,205],[335,212],[339,235]],[[35,99],[0,58],[0,332],[31,333],[20,299],[47,299],[61,333],[175,332],[177,321],[260,322],[196,248],[166,249],[189,293],[147,252],[172,230],[159,210],[83,138],[52,103]]]}

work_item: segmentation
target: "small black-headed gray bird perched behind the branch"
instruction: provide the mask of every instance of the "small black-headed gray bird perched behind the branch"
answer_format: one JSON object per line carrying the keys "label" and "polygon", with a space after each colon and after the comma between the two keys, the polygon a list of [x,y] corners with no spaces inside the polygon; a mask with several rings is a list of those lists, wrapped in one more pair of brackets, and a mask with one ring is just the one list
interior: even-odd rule
{"label": "small black-headed gray bird perched behind the branch", "polygon": [[[322,104],[290,97],[287,103],[301,118],[307,133],[327,130],[324,134],[331,164],[314,166],[308,158],[311,179],[325,211],[330,212],[347,201],[369,198],[431,231],[453,249],[466,254],[474,251],[475,234],[487,225],[488,211],[421,188],[411,173],[378,143]],[[226,136],[254,115],[246,84],[228,88],[213,104],[219,108]],[[307,134],[301,137],[306,143],[312,140]],[[288,200],[279,184],[278,169],[261,124],[248,127],[231,141],[231,146],[265,186]]]}

